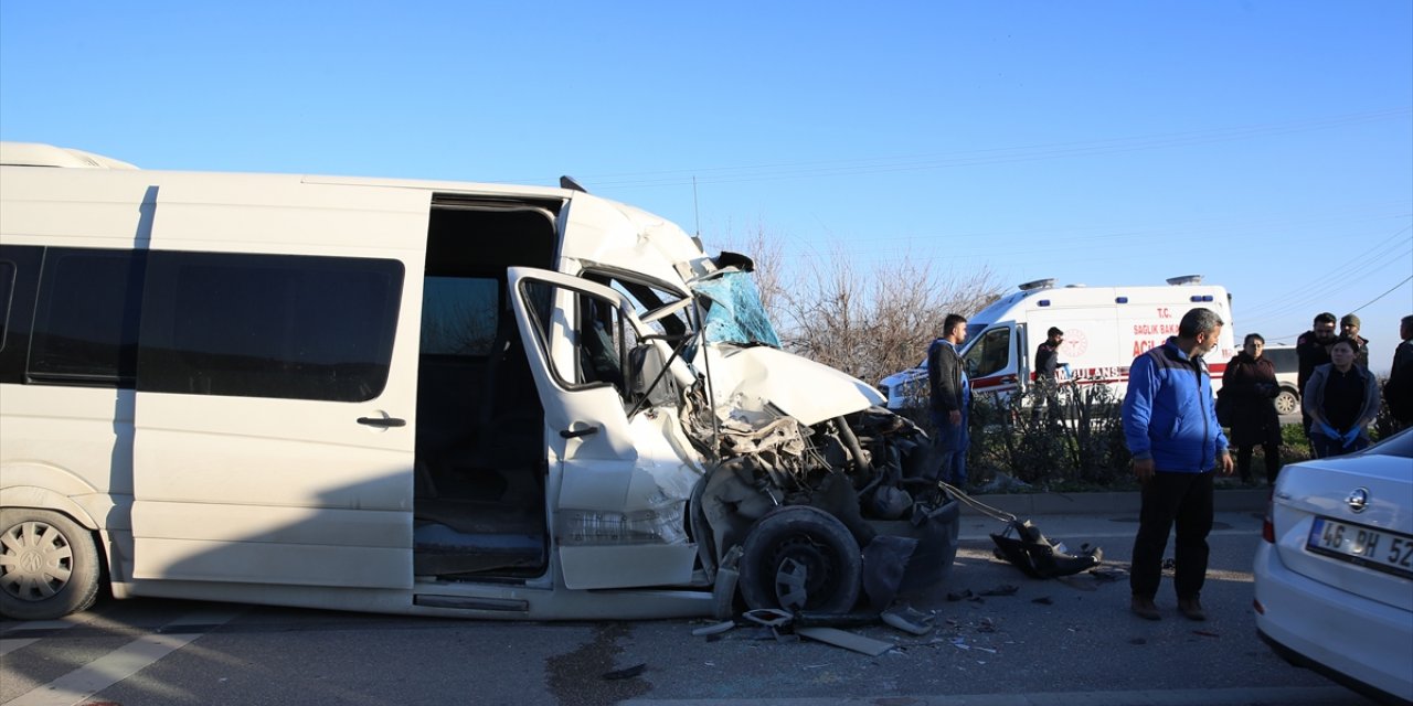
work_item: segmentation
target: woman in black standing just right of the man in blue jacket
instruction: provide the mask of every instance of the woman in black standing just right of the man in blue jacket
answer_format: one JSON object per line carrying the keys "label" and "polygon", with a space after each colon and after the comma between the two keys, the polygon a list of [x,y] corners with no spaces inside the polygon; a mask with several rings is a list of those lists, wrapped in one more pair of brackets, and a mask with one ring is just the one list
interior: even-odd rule
{"label": "woman in black standing just right of the man in blue jacket", "polygon": [[1241,353],[1226,363],[1222,374],[1222,397],[1229,397],[1232,405],[1231,443],[1236,448],[1236,472],[1248,486],[1252,483],[1251,456],[1258,445],[1266,456],[1266,483],[1275,486],[1280,473],[1280,415],[1275,402],[1280,385],[1276,384],[1276,366],[1262,357],[1265,350],[1266,339],[1248,333]]}

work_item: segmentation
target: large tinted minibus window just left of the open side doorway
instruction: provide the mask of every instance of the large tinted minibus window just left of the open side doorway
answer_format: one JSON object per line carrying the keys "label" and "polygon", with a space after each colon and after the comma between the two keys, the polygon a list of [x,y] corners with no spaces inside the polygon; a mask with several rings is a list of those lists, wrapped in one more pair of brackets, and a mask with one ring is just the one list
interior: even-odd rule
{"label": "large tinted minibus window just left of the open side doorway", "polygon": [[382,394],[403,264],[154,251],[138,391],[362,402]]}

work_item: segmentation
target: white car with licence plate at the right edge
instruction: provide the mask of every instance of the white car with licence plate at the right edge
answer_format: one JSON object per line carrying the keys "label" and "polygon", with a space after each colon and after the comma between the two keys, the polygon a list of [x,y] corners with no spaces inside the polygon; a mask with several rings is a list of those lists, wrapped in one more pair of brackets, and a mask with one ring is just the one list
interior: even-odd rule
{"label": "white car with licence plate at the right edge", "polygon": [[1413,703],[1413,429],[1282,469],[1262,537],[1262,640],[1361,693]]}

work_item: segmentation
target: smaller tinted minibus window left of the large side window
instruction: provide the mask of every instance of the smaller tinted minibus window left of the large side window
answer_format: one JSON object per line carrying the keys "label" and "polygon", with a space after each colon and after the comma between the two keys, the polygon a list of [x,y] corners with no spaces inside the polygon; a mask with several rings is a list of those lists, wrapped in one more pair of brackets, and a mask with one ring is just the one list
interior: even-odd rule
{"label": "smaller tinted minibus window left of the large side window", "polygon": [[133,385],[146,254],[64,247],[45,251],[30,347],[31,380]]}

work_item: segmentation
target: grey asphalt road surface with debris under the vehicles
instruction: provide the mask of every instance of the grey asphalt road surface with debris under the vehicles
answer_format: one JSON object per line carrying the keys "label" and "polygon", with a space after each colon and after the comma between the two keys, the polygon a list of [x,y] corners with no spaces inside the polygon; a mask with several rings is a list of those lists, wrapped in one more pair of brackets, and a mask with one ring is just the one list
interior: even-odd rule
{"label": "grey asphalt road surface with debris under the vehicles", "polygon": [[[1218,515],[1207,623],[1176,613],[1167,579],[1164,620],[1128,613],[1136,515],[1033,520],[1071,546],[1102,546],[1113,576],[1029,579],[992,558],[986,532],[1000,524],[968,515],[952,578],[906,600],[934,617],[930,634],[849,628],[892,647],[879,657],[745,626],[691,634],[712,621],[485,623],[109,600],[65,621],[0,621],[0,702],[1368,703],[1284,664],[1256,638],[1251,562],[1259,513]],[[948,600],[966,592],[971,600]]]}

